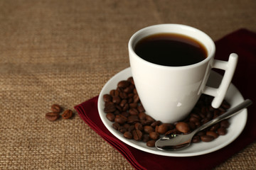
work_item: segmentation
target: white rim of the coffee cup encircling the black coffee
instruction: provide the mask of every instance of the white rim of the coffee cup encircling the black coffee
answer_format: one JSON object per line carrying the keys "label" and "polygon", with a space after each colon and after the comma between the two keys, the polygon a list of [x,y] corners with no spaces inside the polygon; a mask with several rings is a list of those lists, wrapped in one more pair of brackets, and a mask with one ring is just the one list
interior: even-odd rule
{"label": "white rim of the coffee cup encircling the black coffee", "polygon": [[[176,27],[176,28],[179,27],[181,29],[186,29],[186,30],[190,30],[190,31],[196,31],[197,33],[200,33],[201,35],[203,35],[203,37],[208,39],[208,42],[210,42],[211,51],[209,51],[208,47],[206,47],[206,43],[203,43],[201,40],[198,40],[198,41],[200,41],[206,47],[206,50],[208,52],[208,55],[207,55],[206,59],[202,60],[201,62],[197,62],[195,64],[190,64],[190,65],[185,65],[185,66],[166,66],[166,65],[160,65],[160,64],[155,64],[155,63],[152,63],[152,62],[148,62],[148,61],[142,59],[142,57],[139,57],[139,55],[137,55],[136,52],[134,52],[134,47],[133,47],[134,40],[139,35],[142,35],[142,33],[146,33],[146,31],[148,31],[148,30],[152,30],[154,28],[166,27],[166,26],[170,27],[170,28],[171,27]],[[163,32],[159,31],[157,33],[163,33]],[[166,33],[175,33],[175,32],[171,32],[171,31],[167,32],[166,31]],[[146,36],[154,35],[154,34],[156,34],[156,33],[149,33]],[[185,34],[183,34],[183,35],[185,35]],[[145,38],[146,36],[144,35],[142,38]],[[190,36],[190,35],[186,35],[186,36]],[[193,39],[196,39],[193,36],[190,36],[190,37],[193,38]],[[140,38],[139,40],[141,40],[142,38]],[[215,55],[215,43],[213,42],[213,40],[210,38],[209,35],[207,35],[206,33],[204,33],[201,30],[198,30],[197,28],[193,28],[191,26],[186,26],[186,25],[177,24],[177,23],[164,23],[164,24],[157,24],[157,25],[153,25],[153,26],[148,26],[148,27],[142,28],[140,30],[137,30],[137,32],[134,33],[132,35],[132,37],[129,39],[128,50],[129,50],[129,53],[131,53],[129,55],[132,55],[132,56],[136,57],[137,60],[140,60],[141,62],[144,62],[145,64],[150,64],[152,67],[159,67],[159,68],[162,68],[162,69],[191,69],[193,67],[198,67],[199,65],[205,64],[206,62],[209,62],[209,60],[213,59],[213,57]]]}

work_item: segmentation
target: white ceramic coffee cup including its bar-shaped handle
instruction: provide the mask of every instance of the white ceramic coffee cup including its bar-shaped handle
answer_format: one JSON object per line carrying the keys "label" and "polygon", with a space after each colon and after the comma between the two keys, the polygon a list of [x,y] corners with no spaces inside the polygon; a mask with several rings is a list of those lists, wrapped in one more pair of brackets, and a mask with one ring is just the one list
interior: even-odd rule
{"label": "white ceramic coffee cup including its bar-shaped handle", "polygon": [[[143,60],[134,52],[139,40],[157,33],[186,35],[201,42],[208,52],[205,60],[196,64],[169,67]],[[132,35],[128,44],[132,77],[146,113],[163,123],[174,123],[191,112],[201,94],[214,96],[212,106],[223,102],[238,62],[238,55],[230,54],[228,62],[215,60],[215,44],[201,30],[180,24],[149,26]],[[225,70],[218,89],[206,86],[210,69]]]}

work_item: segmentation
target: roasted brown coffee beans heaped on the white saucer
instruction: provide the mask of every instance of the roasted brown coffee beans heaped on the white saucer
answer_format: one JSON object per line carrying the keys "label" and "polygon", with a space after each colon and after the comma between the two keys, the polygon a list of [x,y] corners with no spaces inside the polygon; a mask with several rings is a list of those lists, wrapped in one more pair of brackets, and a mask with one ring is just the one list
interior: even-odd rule
{"label": "roasted brown coffee beans heaped on the white saucer", "polygon": [[[161,123],[146,115],[132,77],[119,81],[117,89],[112,89],[110,94],[105,94],[103,100],[105,101],[104,111],[107,119],[113,122],[112,127],[122,132],[129,140],[146,142],[148,147],[154,147],[160,135],[188,134],[230,108],[227,101],[223,101],[218,109],[211,107],[213,98],[203,94],[186,119],[177,123]],[[223,120],[198,132],[193,137],[193,142],[210,142],[219,135],[225,135],[229,125],[228,120]]]}

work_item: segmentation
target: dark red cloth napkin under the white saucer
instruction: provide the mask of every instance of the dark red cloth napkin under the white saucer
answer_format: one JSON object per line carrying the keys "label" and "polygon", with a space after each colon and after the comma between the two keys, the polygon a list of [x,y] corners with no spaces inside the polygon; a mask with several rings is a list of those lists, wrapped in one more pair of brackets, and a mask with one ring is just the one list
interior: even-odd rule
{"label": "dark red cloth napkin under the white saucer", "polygon": [[[244,98],[250,98],[255,103],[256,34],[240,29],[218,40],[215,45],[217,49],[215,59],[227,61],[232,52],[239,55],[233,84]],[[126,145],[105,128],[97,111],[97,99],[98,96],[75,106],[76,111],[92,130],[117,149],[135,169],[213,169],[256,139],[256,105],[254,104],[248,108],[245,130],[223,149],[196,157],[164,157],[149,154]]]}

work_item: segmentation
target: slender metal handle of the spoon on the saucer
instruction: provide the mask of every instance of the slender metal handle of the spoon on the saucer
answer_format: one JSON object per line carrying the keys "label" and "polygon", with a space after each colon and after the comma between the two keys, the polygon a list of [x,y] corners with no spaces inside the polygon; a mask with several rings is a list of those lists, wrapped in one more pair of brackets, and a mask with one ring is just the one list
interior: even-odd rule
{"label": "slender metal handle of the spoon on the saucer", "polygon": [[252,104],[252,101],[250,99],[246,99],[242,103],[240,103],[238,106],[235,106],[234,108],[230,108],[226,113],[223,113],[222,115],[219,115],[217,118],[210,120],[208,123],[201,125],[201,127],[194,130],[194,132],[198,132],[200,130],[204,130],[205,128],[208,128],[211,125],[214,125],[215,123],[220,122],[221,120],[230,118],[231,116],[238,113],[238,111],[242,110],[242,108],[247,108]]}

